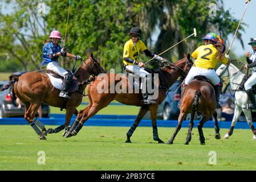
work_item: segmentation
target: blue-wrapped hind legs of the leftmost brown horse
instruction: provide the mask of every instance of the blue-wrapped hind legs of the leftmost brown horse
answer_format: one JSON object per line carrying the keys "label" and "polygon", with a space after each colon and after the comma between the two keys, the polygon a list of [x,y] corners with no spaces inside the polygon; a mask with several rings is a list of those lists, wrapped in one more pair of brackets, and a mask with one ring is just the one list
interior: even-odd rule
{"label": "blue-wrapped hind legs of the leftmost brown horse", "polygon": [[[38,103],[33,103],[33,104],[29,104],[26,102],[23,102],[25,104],[25,119],[27,120],[27,122],[30,123],[30,126],[32,127],[32,129],[35,130],[35,133],[38,134],[40,137],[40,140],[46,140],[46,137],[44,137],[44,135],[47,135],[47,131],[45,126],[43,125],[42,122],[40,122],[38,119],[36,119],[35,117],[35,112],[36,110],[38,110],[40,104]],[[39,128],[42,130],[40,131]]]}

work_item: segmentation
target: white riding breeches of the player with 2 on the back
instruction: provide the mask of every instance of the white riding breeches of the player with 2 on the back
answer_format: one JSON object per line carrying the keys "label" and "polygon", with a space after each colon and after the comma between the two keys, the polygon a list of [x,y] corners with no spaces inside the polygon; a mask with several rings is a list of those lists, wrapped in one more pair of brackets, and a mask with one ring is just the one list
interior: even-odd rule
{"label": "white riding breeches of the player with 2 on the back", "polygon": [[188,85],[197,75],[205,76],[212,82],[213,85],[217,85],[221,81],[220,77],[218,77],[214,69],[203,69],[198,67],[192,67],[185,78],[185,84]]}

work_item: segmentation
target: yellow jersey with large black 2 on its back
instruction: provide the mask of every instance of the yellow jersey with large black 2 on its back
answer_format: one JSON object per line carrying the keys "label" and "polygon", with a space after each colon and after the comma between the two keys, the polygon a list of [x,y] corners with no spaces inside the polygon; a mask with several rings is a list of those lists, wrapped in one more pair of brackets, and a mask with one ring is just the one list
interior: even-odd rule
{"label": "yellow jersey with large black 2 on its back", "polygon": [[222,61],[223,64],[227,64],[228,60],[224,57],[222,60],[217,59],[217,49],[213,44],[206,46],[200,46],[192,53],[192,57],[196,59],[194,66],[204,69],[214,69],[218,61]]}

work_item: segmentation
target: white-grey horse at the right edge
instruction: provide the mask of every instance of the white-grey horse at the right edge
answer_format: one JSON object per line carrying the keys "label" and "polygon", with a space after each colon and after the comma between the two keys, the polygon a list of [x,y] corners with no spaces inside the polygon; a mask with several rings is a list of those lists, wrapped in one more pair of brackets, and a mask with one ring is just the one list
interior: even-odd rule
{"label": "white-grey horse at the right edge", "polygon": [[[245,90],[241,87],[241,82],[245,77],[245,74],[241,72],[240,69],[235,67],[234,64],[230,64],[228,67],[225,64],[220,65],[220,67],[216,71],[217,75],[221,78],[228,77],[231,89],[234,91],[234,102],[235,102],[235,109],[234,109],[234,117],[231,122],[231,126],[229,131],[224,135],[224,139],[228,139],[234,131],[235,124],[237,123],[242,111],[245,114],[246,121],[250,126],[251,130],[253,131],[253,139],[256,139],[256,129],[253,126],[253,119],[251,117],[251,110],[243,109],[247,105],[247,94]],[[240,86],[241,85],[241,86]]]}

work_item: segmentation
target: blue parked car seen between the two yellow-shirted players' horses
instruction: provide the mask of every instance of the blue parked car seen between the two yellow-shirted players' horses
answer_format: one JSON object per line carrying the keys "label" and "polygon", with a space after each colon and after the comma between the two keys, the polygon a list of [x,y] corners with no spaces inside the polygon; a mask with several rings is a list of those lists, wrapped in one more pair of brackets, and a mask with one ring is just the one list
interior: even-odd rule
{"label": "blue parked car seen between the two yellow-shirted players' horses", "polygon": [[[170,91],[166,94],[164,101],[159,105],[157,118],[164,120],[178,118],[178,115],[180,114],[178,102],[180,102],[181,96],[181,83],[182,80],[177,80],[170,86]],[[144,119],[151,119],[150,112],[145,115]]]}

